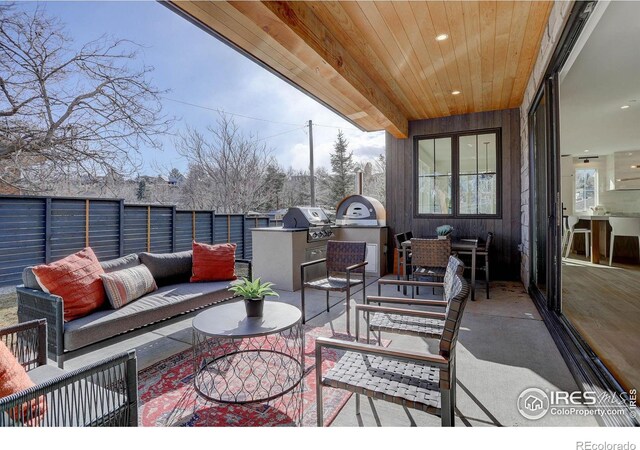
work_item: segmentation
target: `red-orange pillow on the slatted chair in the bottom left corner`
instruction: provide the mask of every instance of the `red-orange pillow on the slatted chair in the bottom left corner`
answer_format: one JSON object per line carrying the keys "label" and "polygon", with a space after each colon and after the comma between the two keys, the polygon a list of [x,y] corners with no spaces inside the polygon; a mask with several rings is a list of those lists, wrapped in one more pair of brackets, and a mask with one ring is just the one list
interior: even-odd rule
{"label": "red-orange pillow on the slatted chair in the bottom left corner", "polygon": [[[35,385],[27,372],[5,343],[0,341],[0,398],[24,391],[32,386]],[[22,408],[16,406],[11,409],[9,416],[25,425],[38,425],[39,419],[44,415],[45,406],[44,397],[40,397],[24,403]]]}

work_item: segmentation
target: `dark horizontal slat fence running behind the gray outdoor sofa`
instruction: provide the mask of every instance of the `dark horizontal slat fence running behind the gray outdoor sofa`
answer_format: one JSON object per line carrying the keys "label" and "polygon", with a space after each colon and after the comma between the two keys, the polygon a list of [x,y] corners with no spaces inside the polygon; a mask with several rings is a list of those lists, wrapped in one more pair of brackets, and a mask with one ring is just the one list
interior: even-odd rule
{"label": "dark horizontal slat fence running behind the gray outdoor sofa", "polygon": [[119,199],[0,196],[0,287],[20,284],[27,266],[87,246],[107,260],[190,250],[193,240],[233,242],[238,258],[251,259],[251,228],[272,225],[266,216],[126,205]]}

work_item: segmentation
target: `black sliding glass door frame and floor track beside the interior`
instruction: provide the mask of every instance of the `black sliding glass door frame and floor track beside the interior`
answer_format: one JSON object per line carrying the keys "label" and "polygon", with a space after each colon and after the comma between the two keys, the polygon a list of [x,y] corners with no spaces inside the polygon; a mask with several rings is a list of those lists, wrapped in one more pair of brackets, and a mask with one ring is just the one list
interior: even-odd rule
{"label": "black sliding glass door frame and floor track beside the interior", "polygon": [[[559,123],[559,90],[558,73],[564,65],[570,51],[588,20],[596,1],[576,1],[570,13],[565,28],[551,56],[534,101],[527,111],[527,125],[529,127],[529,245],[530,258],[529,293],[534,299],[545,325],[549,329],[552,338],[556,342],[560,353],[578,386],[582,390],[606,393],[609,396],[621,396],[628,400],[628,394],[622,389],[615,377],[602,364],[598,356],[582,339],[578,331],[562,314],[562,202],[560,197],[560,123]],[[534,128],[533,115],[540,105],[540,100],[545,98],[545,157],[549,163],[546,170],[547,195],[545,202],[548,205],[547,217],[547,260],[552,263],[547,267],[547,293],[545,296],[533,283],[535,261],[533,260],[534,228],[534,192],[536,186],[535,159],[534,159]],[[611,397],[613,398],[613,397]],[[609,426],[639,426],[640,422],[635,415],[605,415],[599,417],[599,421]]]}

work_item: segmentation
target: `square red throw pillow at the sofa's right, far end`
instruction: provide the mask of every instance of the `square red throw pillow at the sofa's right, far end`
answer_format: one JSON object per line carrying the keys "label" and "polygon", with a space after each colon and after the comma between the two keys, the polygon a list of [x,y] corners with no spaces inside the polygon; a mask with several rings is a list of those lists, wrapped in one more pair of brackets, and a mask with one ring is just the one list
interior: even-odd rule
{"label": "square red throw pillow at the sofa's right, far end", "polygon": [[209,245],[193,241],[191,282],[236,278],[236,244]]}

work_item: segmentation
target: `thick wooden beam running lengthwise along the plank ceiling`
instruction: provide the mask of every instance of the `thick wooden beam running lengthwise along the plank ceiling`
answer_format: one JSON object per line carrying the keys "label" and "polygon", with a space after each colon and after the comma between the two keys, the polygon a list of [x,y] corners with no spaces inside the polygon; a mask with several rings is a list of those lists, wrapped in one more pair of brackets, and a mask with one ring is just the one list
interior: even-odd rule
{"label": "thick wooden beam running lengthwise along the plank ceiling", "polygon": [[[375,119],[380,128],[397,138],[408,136],[407,117],[307,5],[300,2],[274,1],[239,1],[230,4],[280,45],[299,57],[303,57],[301,55],[304,54],[304,48],[311,50],[310,54],[319,56],[323,64],[330,66],[353,88],[360,100],[366,101],[363,114]],[[298,39],[291,39],[291,32],[295,33]],[[304,47],[302,50],[301,46]],[[317,64],[317,61],[314,61],[314,64]]]}

